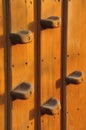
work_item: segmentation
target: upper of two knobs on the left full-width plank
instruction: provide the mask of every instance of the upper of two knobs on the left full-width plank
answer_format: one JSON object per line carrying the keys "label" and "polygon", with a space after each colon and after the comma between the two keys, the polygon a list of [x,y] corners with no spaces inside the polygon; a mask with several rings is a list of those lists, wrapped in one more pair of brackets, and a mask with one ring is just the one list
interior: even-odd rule
{"label": "upper of two knobs on the left full-width plank", "polygon": [[12,44],[30,43],[32,41],[32,32],[28,30],[21,30],[18,33],[11,33],[10,41]]}

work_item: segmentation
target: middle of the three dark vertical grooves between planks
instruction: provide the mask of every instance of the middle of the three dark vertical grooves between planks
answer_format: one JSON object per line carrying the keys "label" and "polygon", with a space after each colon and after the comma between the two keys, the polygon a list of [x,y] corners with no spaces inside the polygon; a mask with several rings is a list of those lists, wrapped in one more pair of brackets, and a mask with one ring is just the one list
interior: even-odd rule
{"label": "middle of the three dark vertical grooves between planks", "polygon": [[36,121],[36,129],[40,130],[41,129],[41,120],[40,120],[40,104],[41,104],[41,94],[40,94],[40,5],[41,5],[41,0],[35,1],[35,17],[36,17],[36,44],[35,44],[35,83],[36,83],[36,116],[37,116],[37,121]]}

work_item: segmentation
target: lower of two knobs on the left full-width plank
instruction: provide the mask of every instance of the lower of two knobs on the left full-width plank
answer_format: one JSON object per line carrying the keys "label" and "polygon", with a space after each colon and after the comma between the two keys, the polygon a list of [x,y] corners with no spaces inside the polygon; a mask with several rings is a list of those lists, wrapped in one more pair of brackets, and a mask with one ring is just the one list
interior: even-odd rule
{"label": "lower of two knobs on the left full-width plank", "polygon": [[28,99],[33,94],[33,87],[28,83],[21,83],[11,91],[13,99]]}

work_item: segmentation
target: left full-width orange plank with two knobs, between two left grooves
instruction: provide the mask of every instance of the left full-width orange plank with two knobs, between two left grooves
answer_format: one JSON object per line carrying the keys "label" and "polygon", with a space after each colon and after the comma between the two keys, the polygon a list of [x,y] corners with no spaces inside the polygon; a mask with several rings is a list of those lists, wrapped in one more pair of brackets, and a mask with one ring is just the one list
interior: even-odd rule
{"label": "left full-width orange plank with two knobs, between two left grooves", "polygon": [[[11,0],[10,5],[11,33],[32,32],[32,42],[11,44],[12,90],[22,82],[30,83],[34,88],[34,0]],[[11,111],[11,130],[35,129],[35,90],[27,100],[12,100]]]}

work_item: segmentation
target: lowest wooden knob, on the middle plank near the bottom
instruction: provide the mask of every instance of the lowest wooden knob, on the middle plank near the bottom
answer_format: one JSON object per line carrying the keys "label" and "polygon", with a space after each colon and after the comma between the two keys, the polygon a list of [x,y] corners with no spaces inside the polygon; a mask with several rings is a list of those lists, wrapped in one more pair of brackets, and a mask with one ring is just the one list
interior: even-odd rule
{"label": "lowest wooden knob, on the middle plank near the bottom", "polygon": [[41,113],[55,115],[61,109],[60,102],[55,98],[50,98],[41,106]]}

